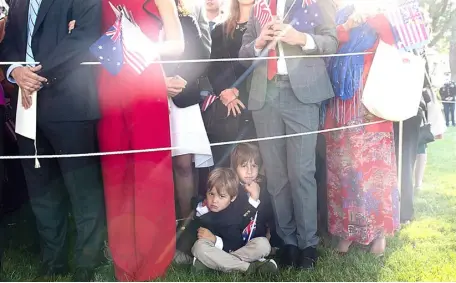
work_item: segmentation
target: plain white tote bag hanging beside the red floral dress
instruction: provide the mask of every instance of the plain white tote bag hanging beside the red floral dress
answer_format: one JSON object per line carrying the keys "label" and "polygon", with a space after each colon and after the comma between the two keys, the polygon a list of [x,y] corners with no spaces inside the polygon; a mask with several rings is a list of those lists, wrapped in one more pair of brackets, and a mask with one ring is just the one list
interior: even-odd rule
{"label": "plain white tote bag hanging beside the red floral dress", "polygon": [[416,116],[421,100],[425,60],[380,41],[364,87],[362,103],[388,121]]}

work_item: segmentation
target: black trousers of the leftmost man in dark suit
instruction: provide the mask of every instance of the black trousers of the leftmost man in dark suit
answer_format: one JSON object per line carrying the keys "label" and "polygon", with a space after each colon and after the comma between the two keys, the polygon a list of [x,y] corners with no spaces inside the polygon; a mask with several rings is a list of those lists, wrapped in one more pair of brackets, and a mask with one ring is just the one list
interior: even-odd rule
{"label": "black trousers of the leftmost man in dark suit", "polygon": [[[38,123],[38,155],[91,153],[97,150],[97,123]],[[21,155],[34,155],[32,140],[18,136]],[[76,267],[99,264],[105,239],[105,209],[99,158],[22,160],[32,210],[42,240],[42,263],[65,268],[67,230],[71,212],[76,225]],[[68,201],[69,200],[69,201]],[[71,209],[70,209],[71,207]]]}

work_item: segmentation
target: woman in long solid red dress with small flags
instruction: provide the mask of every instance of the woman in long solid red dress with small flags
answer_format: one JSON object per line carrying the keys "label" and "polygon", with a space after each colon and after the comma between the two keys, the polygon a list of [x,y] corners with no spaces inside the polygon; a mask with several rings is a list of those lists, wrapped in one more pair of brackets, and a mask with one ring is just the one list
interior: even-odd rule
{"label": "woman in long solid red dress with small flags", "polygon": [[[169,148],[168,95],[159,56],[184,50],[174,0],[102,0],[103,28],[92,45],[99,79],[103,152]],[[163,27],[166,39],[158,43]],[[120,33],[120,34],[119,34]],[[109,60],[108,60],[109,59]],[[182,89],[177,84],[175,88]],[[163,275],[175,249],[171,151],[101,158],[109,248],[119,281]]]}

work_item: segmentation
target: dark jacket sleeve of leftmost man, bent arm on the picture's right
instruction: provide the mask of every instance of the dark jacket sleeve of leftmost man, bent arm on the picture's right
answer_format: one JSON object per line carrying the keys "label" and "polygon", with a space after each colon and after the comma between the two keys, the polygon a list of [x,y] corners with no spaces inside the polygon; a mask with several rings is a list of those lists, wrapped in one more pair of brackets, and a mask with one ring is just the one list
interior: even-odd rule
{"label": "dark jacket sleeve of leftmost man, bent arm on the picture's right", "polygon": [[40,60],[42,69],[39,75],[54,78],[65,75],[89,58],[89,47],[101,35],[101,1],[74,0],[72,5],[73,31]]}

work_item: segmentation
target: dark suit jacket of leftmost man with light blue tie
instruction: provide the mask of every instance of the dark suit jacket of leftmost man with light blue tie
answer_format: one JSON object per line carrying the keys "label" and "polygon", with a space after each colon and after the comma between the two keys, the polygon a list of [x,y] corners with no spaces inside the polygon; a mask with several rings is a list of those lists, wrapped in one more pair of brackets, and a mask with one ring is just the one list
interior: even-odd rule
{"label": "dark suit jacket of leftmost man with light blue tie", "polygon": [[[30,0],[11,0],[1,60],[24,62]],[[69,33],[68,24],[75,20]],[[43,0],[32,36],[32,50],[48,84],[38,92],[37,121],[99,118],[95,66],[89,47],[101,35],[100,0]],[[5,70],[9,66],[4,66]]]}

